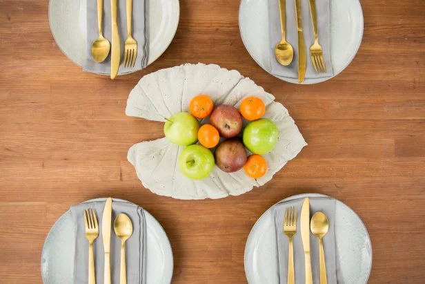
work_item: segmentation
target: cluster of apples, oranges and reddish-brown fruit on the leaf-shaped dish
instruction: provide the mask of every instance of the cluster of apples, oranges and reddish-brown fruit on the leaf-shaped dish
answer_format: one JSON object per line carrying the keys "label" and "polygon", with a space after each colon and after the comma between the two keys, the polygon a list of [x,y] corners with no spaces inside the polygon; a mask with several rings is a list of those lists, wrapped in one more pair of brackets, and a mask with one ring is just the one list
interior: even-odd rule
{"label": "cluster of apples, oranges and reddish-brown fruit on the leaf-shaped dish", "polygon": [[[172,115],[164,125],[170,142],[186,146],[178,158],[184,176],[207,178],[215,164],[226,173],[244,168],[250,178],[264,176],[267,162],[261,155],[273,151],[279,131],[272,120],[261,118],[266,106],[259,97],[246,97],[238,110],[227,104],[214,106],[208,95],[197,95],[189,111]],[[201,126],[199,120],[206,123]]]}

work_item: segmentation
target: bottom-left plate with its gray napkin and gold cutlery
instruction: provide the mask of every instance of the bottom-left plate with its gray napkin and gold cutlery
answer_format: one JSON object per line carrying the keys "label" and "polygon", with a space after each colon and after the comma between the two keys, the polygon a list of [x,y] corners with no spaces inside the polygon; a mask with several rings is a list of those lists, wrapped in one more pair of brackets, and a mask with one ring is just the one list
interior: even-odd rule
{"label": "bottom-left plate with its gray napkin and gold cutlery", "polygon": [[44,283],[170,283],[173,266],[161,225],[115,198],[73,205],[50,230],[41,263]]}

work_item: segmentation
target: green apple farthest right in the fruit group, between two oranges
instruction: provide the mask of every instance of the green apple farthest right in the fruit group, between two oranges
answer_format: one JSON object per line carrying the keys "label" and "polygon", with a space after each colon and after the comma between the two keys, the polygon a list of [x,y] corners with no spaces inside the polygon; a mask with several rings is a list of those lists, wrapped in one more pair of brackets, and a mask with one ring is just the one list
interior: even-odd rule
{"label": "green apple farthest right in the fruit group, between two oranges", "polygon": [[261,155],[275,148],[278,136],[279,131],[275,122],[261,118],[245,127],[244,144],[249,151]]}

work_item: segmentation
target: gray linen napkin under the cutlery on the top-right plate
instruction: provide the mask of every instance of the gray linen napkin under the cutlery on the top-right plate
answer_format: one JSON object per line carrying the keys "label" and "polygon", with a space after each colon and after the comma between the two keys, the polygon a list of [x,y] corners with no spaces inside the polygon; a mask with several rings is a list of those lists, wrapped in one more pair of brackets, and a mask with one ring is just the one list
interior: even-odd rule
{"label": "gray linen napkin under the cutlery on the top-right plate", "polygon": [[[315,73],[310,59],[310,46],[313,44],[313,24],[310,16],[308,0],[301,0],[302,26],[304,42],[306,44],[306,79],[333,76],[330,62],[330,0],[316,0],[317,29],[319,30],[319,44],[323,48],[326,73]],[[293,46],[294,58],[289,66],[281,66],[275,57],[275,46],[281,40],[279,0],[268,0],[268,41],[270,46],[271,73],[281,77],[298,77],[298,33],[297,17],[295,16],[295,1],[286,0],[286,41]]]}

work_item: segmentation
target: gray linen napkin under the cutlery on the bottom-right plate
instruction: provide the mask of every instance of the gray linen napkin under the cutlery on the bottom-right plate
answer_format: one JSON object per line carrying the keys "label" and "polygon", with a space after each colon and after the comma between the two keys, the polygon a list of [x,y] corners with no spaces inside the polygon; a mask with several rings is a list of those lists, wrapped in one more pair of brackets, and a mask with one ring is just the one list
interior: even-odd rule
{"label": "gray linen napkin under the cutlery on the bottom-right plate", "polygon": [[[279,265],[279,283],[284,284],[288,281],[288,238],[284,234],[284,215],[286,208],[294,206],[297,208],[297,234],[293,239],[294,245],[294,269],[295,283],[306,283],[305,265],[304,265],[304,249],[301,238],[301,226],[299,220],[301,218],[301,209],[304,198],[280,202],[273,207],[273,222],[276,227],[277,234],[277,253]],[[326,276],[329,284],[337,283],[337,269],[339,263],[336,258],[335,247],[335,199],[333,198],[310,198],[310,217],[316,211],[322,211],[329,220],[329,231],[323,238],[323,246],[326,261]],[[310,227],[310,226],[309,226]],[[313,283],[319,283],[319,240],[311,234],[310,231],[310,257],[311,269],[313,274]]]}

